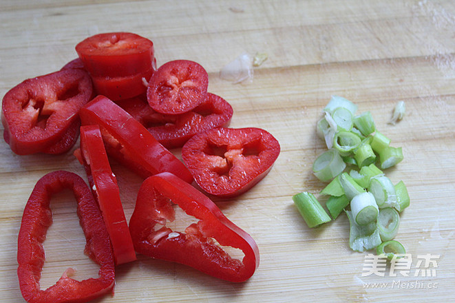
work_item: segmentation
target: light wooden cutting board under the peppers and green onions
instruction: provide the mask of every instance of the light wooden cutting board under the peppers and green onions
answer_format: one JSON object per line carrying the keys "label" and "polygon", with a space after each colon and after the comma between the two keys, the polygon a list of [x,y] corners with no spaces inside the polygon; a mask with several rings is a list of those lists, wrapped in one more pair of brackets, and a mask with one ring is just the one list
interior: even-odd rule
{"label": "light wooden cutting board under the peppers and green onions", "polygon": [[[267,129],[281,144],[262,182],[238,198],[215,200],[260,248],[260,267],[248,282],[224,282],[140,256],[118,267],[115,295],[96,302],[448,302],[454,297],[453,1],[2,0],[0,20],[2,97],[24,79],[59,70],[87,36],[135,32],[154,41],[158,65],[175,59],[203,65],[209,91],[233,106],[231,127]],[[255,67],[252,81],[221,80],[221,67],[244,52],[266,52],[268,59]],[[324,151],[315,124],[332,94],[357,103],[359,112],[372,112],[392,145],[403,147],[405,159],[387,174],[394,183],[403,180],[411,198],[396,237],[412,255],[408,276],[390,267],[383,277],[362,276],[367,253],[349,249],[346,216],[308,229],[293,205],[294,194],[317,194],[324,187],[311,165]],[[389,125],[398,101],[405,101],[405,118]],[[173,152],[180,157],[180,150]],[[0,157],[0,299],[23,302],[17,233],[34,184],[56,169],[86,177],[72,151],[17,156],[2,142]],[[112,166],[129,219],[140,179]],[[97,271],[82,253],[74,198],[62,193],[52,203],[43,288],[67,267],[77,270],[78,279]],[[434,260],[425,277],[424,255]]]}

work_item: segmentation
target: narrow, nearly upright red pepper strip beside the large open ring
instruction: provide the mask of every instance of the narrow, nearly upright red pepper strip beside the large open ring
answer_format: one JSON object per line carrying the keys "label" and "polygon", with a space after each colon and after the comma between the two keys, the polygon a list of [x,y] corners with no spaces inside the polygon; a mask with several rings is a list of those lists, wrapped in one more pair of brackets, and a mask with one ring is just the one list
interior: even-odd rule
{"label": "narrow, nearly upright red pepper strip beside the large open ring", "polygon": [[81,158],[79,160],[85,167],[92,194],[103,214],[116,264],[136,260],[136,252],[120,201],[117,179],[109,165],[98,125],[81,127]]}

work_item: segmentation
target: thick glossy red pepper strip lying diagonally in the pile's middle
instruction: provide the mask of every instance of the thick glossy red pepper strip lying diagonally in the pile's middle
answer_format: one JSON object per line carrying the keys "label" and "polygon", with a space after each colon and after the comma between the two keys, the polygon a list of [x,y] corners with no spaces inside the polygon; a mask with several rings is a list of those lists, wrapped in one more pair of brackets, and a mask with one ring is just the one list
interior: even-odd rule
{"label": "thick glossy red pepper strip lying diagonally in the pile's middle", "polygon": [[105,142],[107,154],[136,171],[140,176],[169,171],[186,182],[191,173],[169,150],[160,145],[132,116],[106,98],[96,96],[81,112],[83,125],[97,124]]}

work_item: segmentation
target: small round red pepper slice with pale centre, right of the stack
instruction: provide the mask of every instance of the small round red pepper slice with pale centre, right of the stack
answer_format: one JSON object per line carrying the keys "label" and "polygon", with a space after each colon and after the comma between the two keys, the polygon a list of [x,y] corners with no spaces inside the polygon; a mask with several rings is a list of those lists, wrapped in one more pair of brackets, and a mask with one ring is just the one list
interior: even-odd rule
{"label": "small round red pepper slice with pale centre, right of the stack", "polygon": [[189,60],[170,61],[151,76],[147,100],[162,114],[182,114],[204,102],[209,75],[199,63]]}

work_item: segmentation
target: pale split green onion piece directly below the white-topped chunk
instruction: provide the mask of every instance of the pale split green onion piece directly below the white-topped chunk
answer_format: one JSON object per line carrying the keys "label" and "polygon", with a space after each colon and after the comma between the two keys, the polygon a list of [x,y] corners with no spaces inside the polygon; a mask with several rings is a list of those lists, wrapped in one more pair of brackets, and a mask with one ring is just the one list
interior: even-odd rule
{"label": "pale split green onion piece directly below the white-topped chunk", "polygon": [[351,211],[345,211],[349,218],[349,247],[354,251],[368,251],[381,244],[381,236],[376,227],[376,222],[359,225],[355,222]]}

